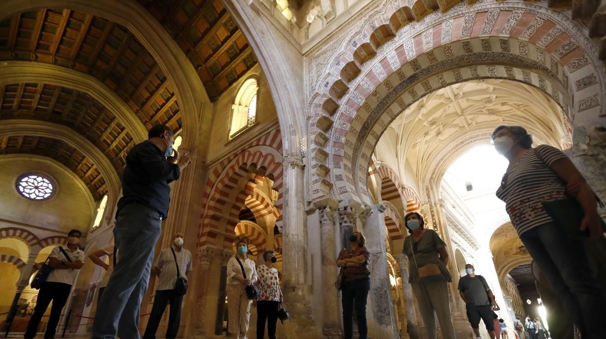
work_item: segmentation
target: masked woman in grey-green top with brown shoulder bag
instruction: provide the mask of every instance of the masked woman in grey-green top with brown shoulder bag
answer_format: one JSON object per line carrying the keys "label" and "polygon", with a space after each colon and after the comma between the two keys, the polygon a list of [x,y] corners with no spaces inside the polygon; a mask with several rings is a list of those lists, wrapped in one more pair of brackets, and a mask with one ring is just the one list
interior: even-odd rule
{"label": "masked woman in grey-green top with brown shoulder bag", "polygon": [[446,268],[446,244],[435,230],[425,229],[425,221],[417,212],[404,217],[410,235],[404,240],[402,253],[408,257],[408,272],[413,294],[419,303],[425,324],[425,336],[436,339],[436,316],[442,338],[454,339],[454,327],[448,301],[448,283],[452,277]]}

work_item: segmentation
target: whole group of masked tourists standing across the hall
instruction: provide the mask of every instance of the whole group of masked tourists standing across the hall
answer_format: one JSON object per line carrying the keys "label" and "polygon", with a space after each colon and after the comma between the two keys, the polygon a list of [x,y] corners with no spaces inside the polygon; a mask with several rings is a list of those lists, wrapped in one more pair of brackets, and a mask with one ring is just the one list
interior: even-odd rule
{"label": "whole group of masked tourists standing across the hall", "polygon": [[[127,155],[122,178],[124,196],[118,202],[114,243],[89,255],[93,263],[106,270],[99,284],[98,312],[92,326],[92,338],[139,338],[139,311],[150,275],[158,278],[155,298],[143,338],[155,338],[162,314],[170,306],[166,338],[178,334],[181,304],[187,293],[192,270],[191,252],[184,249],[184,236],[175,233],[172,246],[162,249],[153,264],[154,248],[161,233],[162,220],[167,218],[170,187],[188,164],[187,153],[173,150],[173,131],[164,125],[151,128],[149,139],[133,147]],[[604,241],[598,200],[571,160],[554,147],[532,148],[532,138],[523,127],[499,126],[492,136],[496,152],[505,156],[509,166],[496,191],[505,202],[505,209],[519,238],[536,265],[535,273],[545,278],[539,292],[561,318],[571,320],[558,328],[561,336],[572,338],[604,338],[601,307],[606,304],[604,292],[596,279],[594,266],[586,252],[591,239]],[[448,283],[448,250],[438,233],[425,227],[418,212],[405,215],[410,233],[404,240],[402,253],[408,257],[409,280],[419,306],[423,337],[455,338],[450,310]],[[68,233],[68,243],[56,247],[39,270],[32,286],[40,289],[38,303],[27,326],[25,338],[36,335],[42,315],[53,302],[45,338],[55,336],[61,309],[70,294],[84,252],[78,247],[79,230]],[[362,232],[353,232],[350,246],[341,250],[336,260],[340,267],[336,287],[341,291],[344,338],[353,337],[355,310],[359,338],[368,334],[366,303],[370,291],[370,252]],[[603,244],[603,243],[601,243]],[[275,253],[265,251],[264,263],[256,266],[247,257],[248,241],[239,239],[236,255],[227,263],[228,333],[246,338],[250,307],[256,307],[256,337],[276,338],[278,318],[288,314],[281,306],[284,297],[279,282]],[[594,246],[594,245],[592,245]],[[599,245],[602,246],[602,245]],[[597,246],[597,247],[599,247]],[[596,247],[596,246],[594,246]],[[604,246],[602,246],[604,247]],[[109,257],[109,263],[102,258]],[[459,296],[465,303],[467,318],[477,338],[481,338],[482,321],[490,338],[543,339],[548,336],[538,318],[514,320],[513,331],[495,313],[500,310],[493,292],[473,264],[465,265],[458,279]],[[546,282],[546,283],[545,283]],[[544,291],[544,292],[543,292]],[[550,297],[554,295],[556,297]],[[558,308],[559,307],[559,308]],[[110,311],[108,311],[110,310]],[[551,324],[550,324],[551,325]],[[551,327],[551,326],[550,326]],[[417,334],[410,333],[411,337]]]}

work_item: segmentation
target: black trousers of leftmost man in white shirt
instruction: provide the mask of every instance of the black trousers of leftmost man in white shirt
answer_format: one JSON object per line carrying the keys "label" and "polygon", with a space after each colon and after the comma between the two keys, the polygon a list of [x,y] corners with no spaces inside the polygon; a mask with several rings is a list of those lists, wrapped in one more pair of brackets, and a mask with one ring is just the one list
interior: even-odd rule
{"label": "black trousers of leftmost man in white shirt", "polygon": [[34,307],[34,314],[27,324],[27,331],[25,331],[24,335],[25,338],[36,337],[42,315],[46,312],[51,300],[53,301],[53,306],[50,309],[50,317],[48,317],[44,338],[52,338],[55,336],[57,324],[59,323],[59,318],[61,318],[61,310],[63,309],[63,306],[65,306],[67,298],[70,296],[70,290],[72,290],[72,285],[64,283],[52,283],[47,281],[42,284],[40,292],[38,292],[38,302],[36,303],[36,307]]}

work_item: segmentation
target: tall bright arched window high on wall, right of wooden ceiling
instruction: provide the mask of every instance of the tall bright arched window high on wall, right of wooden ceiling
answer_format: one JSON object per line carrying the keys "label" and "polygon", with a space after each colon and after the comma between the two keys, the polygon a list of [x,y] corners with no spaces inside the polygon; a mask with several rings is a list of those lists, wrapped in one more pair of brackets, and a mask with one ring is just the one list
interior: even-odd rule
{"label": "tall bright arched window high on wall, right of wooden ceiling", "polygon": [[230,139],[255,124],[258,89],[259,85],[255,78],[247,79],[240,87],[236,99],[231,105]]}

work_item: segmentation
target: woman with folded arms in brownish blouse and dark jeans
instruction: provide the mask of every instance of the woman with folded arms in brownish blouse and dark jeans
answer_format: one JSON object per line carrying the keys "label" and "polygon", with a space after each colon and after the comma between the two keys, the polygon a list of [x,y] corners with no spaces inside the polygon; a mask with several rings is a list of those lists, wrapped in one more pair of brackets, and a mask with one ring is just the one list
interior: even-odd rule
{"label": "woman with folded arms in brownish blouse and dark jeans", "polygon": [[345,339],[353,337],[353,308],[356,308],[358,333],[360,339],[366,339],[368,326],[366,323],[366,300],[370,291],[370,252],[366,246],[366,238],[360,232],[353,232],[349,237],[350,246],[341,250],[337,258],[337,266],[341,267],[343,306],[343,332]]}

